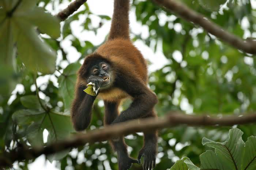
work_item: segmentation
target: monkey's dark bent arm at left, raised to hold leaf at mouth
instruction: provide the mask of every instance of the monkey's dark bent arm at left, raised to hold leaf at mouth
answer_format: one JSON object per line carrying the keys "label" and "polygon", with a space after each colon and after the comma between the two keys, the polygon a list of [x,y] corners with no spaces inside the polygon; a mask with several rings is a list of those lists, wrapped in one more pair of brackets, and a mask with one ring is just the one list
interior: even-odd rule
{"label": "monkey's dark bent arm at left, raised to hold leaf at mouth", "polygon": [[91,110],[96,96],[86,94],[85,86],[79,86],[75,91],[75,99],[71,105],[71,119],[76,131],[86,129],[91,122]]}

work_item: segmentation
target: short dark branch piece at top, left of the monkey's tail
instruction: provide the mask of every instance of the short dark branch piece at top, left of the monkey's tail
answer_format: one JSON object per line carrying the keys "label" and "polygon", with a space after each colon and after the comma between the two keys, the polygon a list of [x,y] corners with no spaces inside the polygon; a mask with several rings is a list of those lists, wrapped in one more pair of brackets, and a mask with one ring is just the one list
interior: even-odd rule
{"label": "short dark branch piece at top, left of the monkey's tail", "polygon": [[56,16],[61,20],[64,21],[67,19],[69,15],[74,13],[75,11],[78,10],[78,8],[83,5],[87,0],[75,0],[72,3],[68,5],[67,8],[63,9],[60,11]]}

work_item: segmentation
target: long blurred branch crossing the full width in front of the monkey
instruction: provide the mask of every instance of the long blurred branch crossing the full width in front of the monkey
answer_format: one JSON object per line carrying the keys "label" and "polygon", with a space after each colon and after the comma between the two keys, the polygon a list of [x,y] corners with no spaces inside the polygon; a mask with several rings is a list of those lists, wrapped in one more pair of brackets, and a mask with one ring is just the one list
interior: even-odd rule
{"label": "long blurred branch crossing the full width in front of the monkey", "polygon": [[106,141],[110,138],[128,135],[141,131],[151,131],[155,129],[163,129],[165,127],[177,126],[179,124],[187,124],[188,126],[231,126],[234,124],[255,123],[256,114],[247,114],[244,116],[225,116],[223,118],[210,116],[185,115],[181,113],[170,113],[162,118],[147,118],[131,120],[129,122],[118,123],[107,126],[104,129],[89,131],[86,134],[78,134],[64,141],[52,143],[41,148],[26,149],[22,148],[18,151],[5,153],[0,156],[0,167],[12,165],[14,161],[22,161],[24,159],[36,158],[41,154],[49,155],[68,149],[70,147],[82,146],[88,142]]}

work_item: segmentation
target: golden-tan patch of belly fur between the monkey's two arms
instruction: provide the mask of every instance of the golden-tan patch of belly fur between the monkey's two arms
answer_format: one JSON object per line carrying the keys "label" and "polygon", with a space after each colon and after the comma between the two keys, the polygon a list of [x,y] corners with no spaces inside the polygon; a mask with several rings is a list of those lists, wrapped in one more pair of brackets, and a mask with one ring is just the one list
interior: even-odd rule
{"label": "golden-tan patch of belly fur between the monkey's two arms", "polygon": [[112,87],[112,88],[109,88],[108,90],[100,91],[98,94],[98,98],[102,100],[110,101],[110,102],[125,99],[127,97],[129,97],[127,92],[121,90],[118,87]]}

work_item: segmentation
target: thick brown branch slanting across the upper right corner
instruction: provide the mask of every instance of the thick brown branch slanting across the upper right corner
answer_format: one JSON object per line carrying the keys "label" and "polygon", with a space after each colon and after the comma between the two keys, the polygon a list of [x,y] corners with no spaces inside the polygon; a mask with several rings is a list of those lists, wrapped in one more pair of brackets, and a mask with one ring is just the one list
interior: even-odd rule
{"label": "thick brown branch slanting across the upper right corner", "polygon": [[180,17],[187,21],[191,21],[197,25],[203,27],[206,31],[215,35],[222,41],[229,43],[231,46],[236,47],[246,53],[256,54],[256,42],[244,41],[239,37],[223,30],[217,24],[209,21],[205,16],[189,9],[186,5],[178,2],[178,0],[154,0],[158,4],[170,9],[178,14]]}

